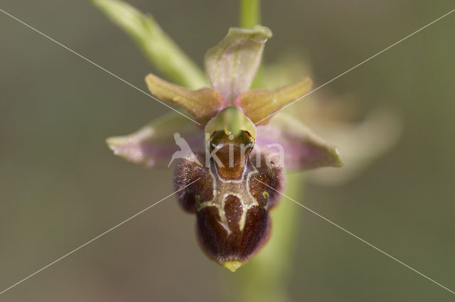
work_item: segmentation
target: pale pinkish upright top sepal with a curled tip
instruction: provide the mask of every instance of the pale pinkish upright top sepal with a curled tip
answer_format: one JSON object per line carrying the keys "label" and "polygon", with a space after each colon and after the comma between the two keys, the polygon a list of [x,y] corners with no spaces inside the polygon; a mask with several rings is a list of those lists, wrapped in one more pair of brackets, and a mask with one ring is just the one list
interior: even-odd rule
{"label": "pale pinkish upright top sepal with a curled tip", "polygon": [[228,35],[205,55],[205,70],[212,86],[228,104],[247,91],[261,63],[262,51],[272,32],[264,26],[230,28]]}

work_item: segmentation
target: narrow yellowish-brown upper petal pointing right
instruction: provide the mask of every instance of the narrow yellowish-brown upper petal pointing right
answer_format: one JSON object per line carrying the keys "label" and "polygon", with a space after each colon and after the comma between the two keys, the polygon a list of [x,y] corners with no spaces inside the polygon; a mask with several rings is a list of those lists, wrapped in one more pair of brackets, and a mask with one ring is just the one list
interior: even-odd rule
{"label": "narrow yellowish-brown upper petal pointing right", "polygon": [[299,97],[303,97],[311,90],[313,82],[309,77],[293,85],[280,87],[276,90],[250,90],[242,93],[235,101],[235,106],[240,107],[245,115],[255,124],[267,124],[270,114]]}

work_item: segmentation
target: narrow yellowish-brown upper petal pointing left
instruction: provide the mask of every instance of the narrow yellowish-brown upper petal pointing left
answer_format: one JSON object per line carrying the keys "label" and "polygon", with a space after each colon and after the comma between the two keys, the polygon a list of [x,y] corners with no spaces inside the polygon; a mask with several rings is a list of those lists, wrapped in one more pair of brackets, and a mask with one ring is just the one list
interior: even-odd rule
{"label": "narrow yellowish-brown upper petal pointing left", "polygon": [[225,107],[223,97],[213,88],[188,90],[152,74],[147,75],[145,81],[153,95],[166,102],[178,104],[202,125]]}

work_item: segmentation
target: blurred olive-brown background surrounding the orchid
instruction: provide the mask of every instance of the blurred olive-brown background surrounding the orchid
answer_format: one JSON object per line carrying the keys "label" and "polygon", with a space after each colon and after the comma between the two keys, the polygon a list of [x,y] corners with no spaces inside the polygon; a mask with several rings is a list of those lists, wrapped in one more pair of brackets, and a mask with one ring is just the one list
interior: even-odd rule
{"label": "blurred olive-brown background surrounding the orchid", "polygon": [[[198,63],[235,1],[130,0]],[[88,1],[1,0],[0,9],[146,89],[153,72]],[[453,1],[263,1],[265,62],[301,50],[315,85],[454,9]],[[309,185],[304,203],[454,290],[455,14],[324,87],[365,109],[390,107],[402,138],[347,185]],[[171,171],[112,154],[168,109],[0,13],[0,291],[173,191]],[[303,102],[303,101],[302,101]],[[343,154],[342,154],[343,155]],[[287,203],[289,200],[282,200]],[[298,207],[294,301],[454,301]],[[11,301],[227,301],[228,270],[200,252],[195,217],[169,198],[1,295]],[[274,227],[279,227],[275,225]],[[229,291],[235,293],[235,287]]]}

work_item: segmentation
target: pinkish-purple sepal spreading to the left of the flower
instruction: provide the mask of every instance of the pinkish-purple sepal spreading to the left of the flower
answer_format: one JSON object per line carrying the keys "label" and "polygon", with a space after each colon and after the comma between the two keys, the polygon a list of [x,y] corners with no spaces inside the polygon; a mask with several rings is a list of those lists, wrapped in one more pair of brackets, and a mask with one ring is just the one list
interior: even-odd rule
{"label": "pinkish-purple sepal spreading to the left of the flower", "polygon": [[196,124],[180,114],[167,114],[139,131],[127,136],[114,136],[106,140],[114,154],[147,167],[166,167],[171,156],[178,151],[174,134],[186,139],[193,151],[204,149],[204,137]]}

